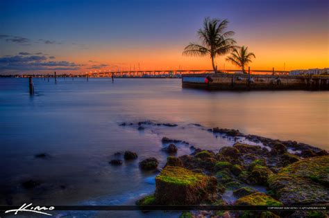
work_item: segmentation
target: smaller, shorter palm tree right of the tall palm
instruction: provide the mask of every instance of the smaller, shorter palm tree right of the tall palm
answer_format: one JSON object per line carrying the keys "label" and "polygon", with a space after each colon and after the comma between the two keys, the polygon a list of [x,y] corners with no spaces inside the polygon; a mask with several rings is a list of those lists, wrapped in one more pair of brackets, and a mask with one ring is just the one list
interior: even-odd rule
{"label": "smaller, shorter palm tree right of the tall palm", "polygon": [[237,48],[233,48],[233,52],[230,54],[229,57],[226,58],[226,60],[232,62],[232,64],[235,64],[242,68],[242,72],[246,73],[244,70],[244,66],[251,63],[251,57],[256,58],[256,56],[253,53],[248,53],[248,47],[240,47],[239,50]]}

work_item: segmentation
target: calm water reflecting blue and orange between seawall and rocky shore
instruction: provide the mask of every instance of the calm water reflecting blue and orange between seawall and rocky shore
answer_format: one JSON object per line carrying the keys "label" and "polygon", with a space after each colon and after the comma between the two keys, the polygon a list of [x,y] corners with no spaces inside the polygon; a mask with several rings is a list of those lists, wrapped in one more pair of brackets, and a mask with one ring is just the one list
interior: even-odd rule
{"label": "calm water reflecting blue and orange between seawall and rocky shore", "polygon": [[[156,174],[141,172],[138,162],[155,156],[160,167],[165,164],[163,136],[214,150],[233,144],[230,138],[215,138],[192,123],[329,149],[326,91],[208,92],[182,89],[178,79],[112,83],[110,79],[60,78],[58,84],[42,79],[34,83],[36,94],[30,97],[28,79],[0,80],[0,204],[131,205],[155,188]],[[142,120],[178,127],[138,131],[135,126],[118,125]],[[179,154],[190,152],[186,145],[178,147]],[[137,161],[117,167],[108,164],[115,152],[125,150],[137,152]],[[40,152],[51,158],[34,158]],[[24,190],[19,183],[26,179],[38,179],[42,185]]]}

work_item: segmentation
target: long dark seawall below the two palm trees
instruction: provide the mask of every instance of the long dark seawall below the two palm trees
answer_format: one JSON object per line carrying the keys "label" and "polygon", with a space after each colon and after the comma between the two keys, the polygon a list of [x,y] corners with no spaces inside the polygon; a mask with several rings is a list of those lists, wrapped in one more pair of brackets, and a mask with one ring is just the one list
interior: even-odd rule
{"label": "long dark seawall below the two palm trees", "polygon": [[[209,75],[212,82],[205,83]],[[208,90],[329,90],[328,75],[241,75],[188,74],[182,76],[183,88]]]}

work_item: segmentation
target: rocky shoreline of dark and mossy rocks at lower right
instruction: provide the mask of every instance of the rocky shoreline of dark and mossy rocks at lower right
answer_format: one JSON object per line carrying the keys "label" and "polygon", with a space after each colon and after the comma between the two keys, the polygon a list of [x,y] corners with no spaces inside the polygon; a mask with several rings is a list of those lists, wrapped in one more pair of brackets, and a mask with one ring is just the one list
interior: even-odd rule
{"label": "rocky shoreline of dark and mossy rocks at lower right", "polygon": [[[143,128],[144,125],[163,124],[151,121],[137,124]],[[326,150],[292,140],[244,135],[236,129],[216,127],[206,131],[244,137],[264,146],[235,143],[232,147],[221,147],[219,152],[192,147],[189,155],[168,156],[165,167],[155,177],[154,194],[138,200],[137,205],[227,205],[230,203],[223,200],[223,195],[228,190],[233,191],[237,199],[233,205],[237,206],[328,205],[329,156]],[[174,151],[175,143],[181,142],[162,138],[162,143],[170,143]],[[149,161],[153,167],[142,167],[142,170],[157,168],[158,161],[152,157],[146,158],[140,166]],[[253,188],[255,185],[264,187],[266,192]],[[194,211],[183,212],[180,217],[328,217],[328,214],[325,211]]]}

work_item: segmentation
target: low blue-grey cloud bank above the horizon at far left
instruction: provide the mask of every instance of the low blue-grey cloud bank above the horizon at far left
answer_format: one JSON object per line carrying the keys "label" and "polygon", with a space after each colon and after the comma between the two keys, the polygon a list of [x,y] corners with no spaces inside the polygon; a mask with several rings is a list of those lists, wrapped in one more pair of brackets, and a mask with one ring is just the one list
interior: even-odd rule
{"label": "low blue-grey cloud bank above the horizon at far left", "polygon": [[[53,57],[53,56],[51,56]],[[67,61],[49,61],[53,59],[44,55],[11,55],[0,57],[0,72],[6,73],[8,71],[53,71],[65,70],[74,71],[81,69],[83,64],[76,64]],[[55,58],[55,57],[54,57]]]}

